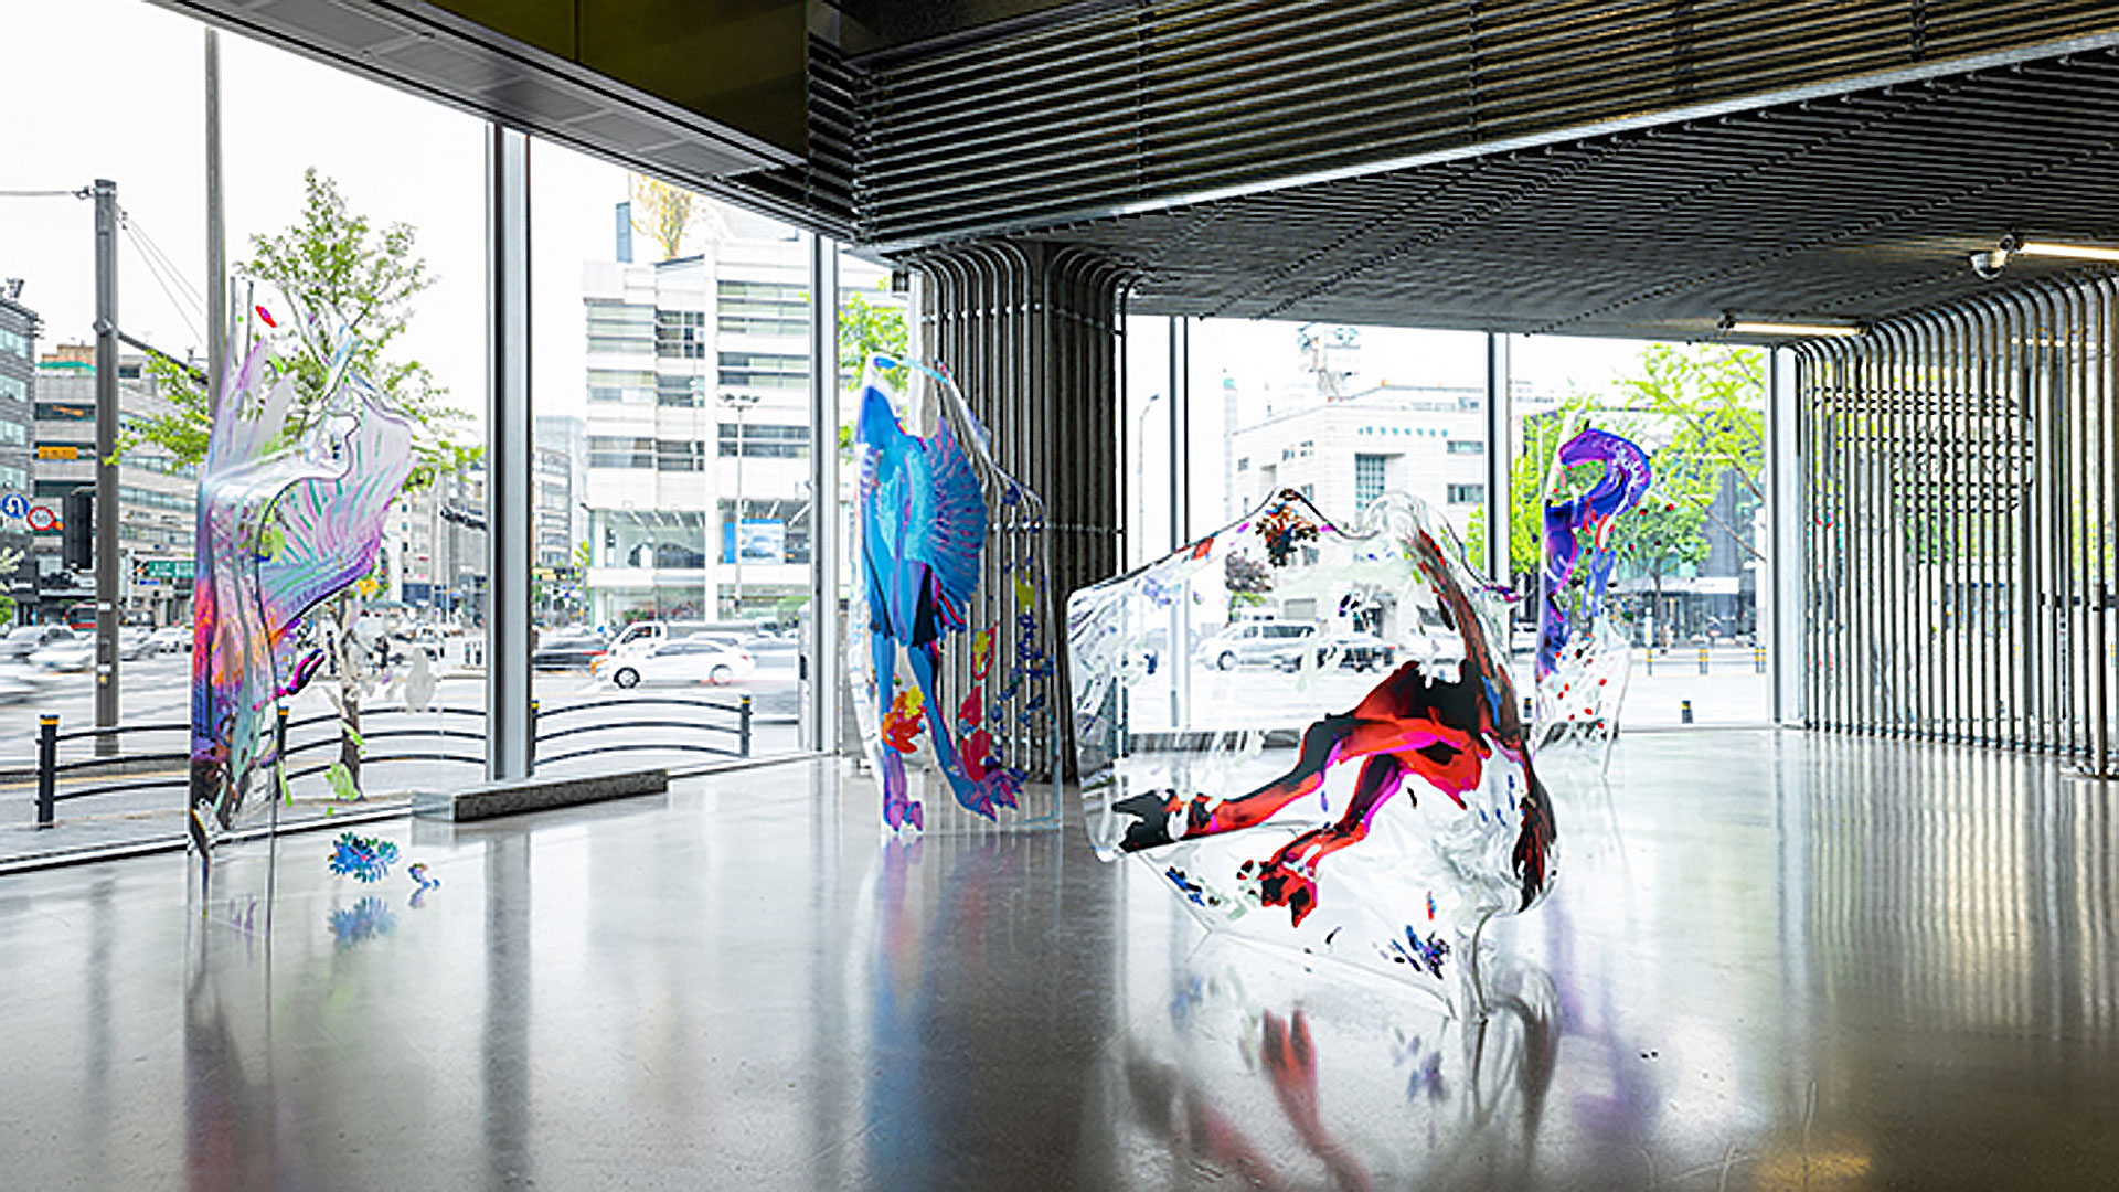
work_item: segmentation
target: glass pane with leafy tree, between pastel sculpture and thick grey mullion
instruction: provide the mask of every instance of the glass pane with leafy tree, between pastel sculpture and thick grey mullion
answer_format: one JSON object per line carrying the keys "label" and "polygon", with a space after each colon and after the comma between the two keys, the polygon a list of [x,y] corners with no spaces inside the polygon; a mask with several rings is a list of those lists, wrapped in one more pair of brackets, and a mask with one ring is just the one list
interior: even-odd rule
{"label": "glass pane with leafy tree, between pastel sculpture and thick grey mullion", "polygon": [[[199,38],[193,25],[178,45]],[[288,704],[292,810],[477,785],[485,123],[248,38],[218,45],[231,303],[303,373],[352,350],[413,422],[422,464],[390,507],[375,571],[311,615],[328,649]],[[356,267],[318,263],[331,255]]]}

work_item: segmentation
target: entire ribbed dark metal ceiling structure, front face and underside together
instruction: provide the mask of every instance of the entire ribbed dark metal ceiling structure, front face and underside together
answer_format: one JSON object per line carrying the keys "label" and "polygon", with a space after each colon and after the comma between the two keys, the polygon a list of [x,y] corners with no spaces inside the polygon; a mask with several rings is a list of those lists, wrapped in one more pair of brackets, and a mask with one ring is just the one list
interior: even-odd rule
{"label": "entire ribbed dark metal ceiling structure, front face and underside together", "polygon": [[2119,240],[2115,42],[2104,2],[1098,8],[854,74],[854,223],[1104,248],[1148,314],[1873,318],[2011,229]]}

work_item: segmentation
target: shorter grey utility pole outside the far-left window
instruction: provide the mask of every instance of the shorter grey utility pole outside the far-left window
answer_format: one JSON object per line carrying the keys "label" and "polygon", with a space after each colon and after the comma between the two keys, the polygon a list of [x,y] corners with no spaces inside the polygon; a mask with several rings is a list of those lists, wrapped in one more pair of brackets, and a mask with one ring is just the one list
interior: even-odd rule
{"label": "shorter grey utility pole outside the far-left window", "polygon": [[[95,180],[95,728],[119,723],[119,185]],[[95,753],[119,751],[114,732]]]}

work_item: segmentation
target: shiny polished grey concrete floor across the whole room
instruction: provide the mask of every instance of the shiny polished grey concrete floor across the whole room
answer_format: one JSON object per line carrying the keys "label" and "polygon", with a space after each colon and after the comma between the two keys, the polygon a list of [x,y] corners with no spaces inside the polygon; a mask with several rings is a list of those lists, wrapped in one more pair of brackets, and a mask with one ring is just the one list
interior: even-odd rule
{"label": "shiny polished grey concrete floor across the whole room", "polygon": [[4,878],[0,1186],[2119,1186],[2108,789],[1704,730],[1560,812],[1483,1027],[809,764],[371,825],[375,887],[288,838],[269,935],[180,857]]}

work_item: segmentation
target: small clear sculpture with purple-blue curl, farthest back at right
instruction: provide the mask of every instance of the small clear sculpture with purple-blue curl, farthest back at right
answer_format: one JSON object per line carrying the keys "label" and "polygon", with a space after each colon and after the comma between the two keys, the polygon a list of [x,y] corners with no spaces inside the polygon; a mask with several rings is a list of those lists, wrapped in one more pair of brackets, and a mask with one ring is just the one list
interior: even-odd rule
{"label": "small clear sculpture with purple-blue curl, farthest back at right", "polygon": [[[1604,464],[1568,494],[1568,469]],[[1545,486],[1545,566],[1538,573],[1538,742],[1600,747],[1608,761],[1625,702],[1630,645],[1604,604],[1617,560],[1613,530],[1655,481],[1649,454],[1610,431],[1583,428],[1553,454]]]}

